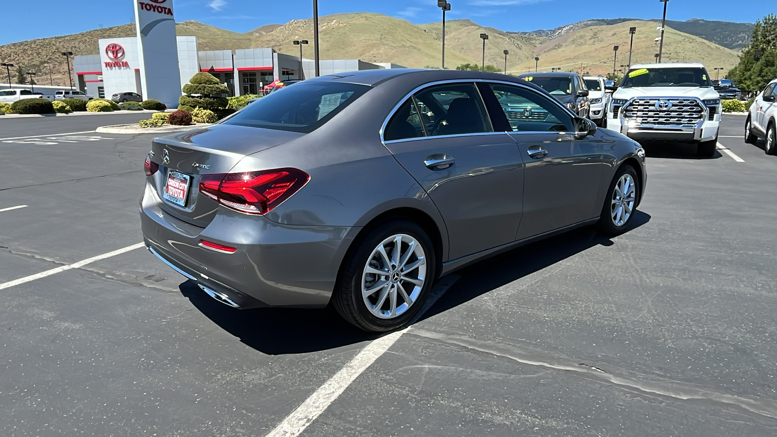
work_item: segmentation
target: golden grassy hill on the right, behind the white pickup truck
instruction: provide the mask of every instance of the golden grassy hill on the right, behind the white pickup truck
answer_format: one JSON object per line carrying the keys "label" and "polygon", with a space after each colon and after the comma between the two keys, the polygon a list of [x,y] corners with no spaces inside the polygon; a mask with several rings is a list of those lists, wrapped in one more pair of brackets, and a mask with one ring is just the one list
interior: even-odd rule
{"label": "golden grassy hill on the right, behind the white pickup truck", "polygon": [[[619,45],[617,68],[629,63],[629,27],[636,26],[632,64],[653,62],[658,45],[653,41],[660,23],[653,21],[626,21],[610,26],[591,26],[566,33],[563,37],[548,40],[535,48],[540,58],[539,70],[550,71],[552,67],[577,72],[606,74],[612,72],[612,47]],[[667,27],[664,33],[663,61],[702,62],[712,72],[714,67],[725,68],[724,72],[737,65],[737,52],[721,47],[699,37],[681,33]],[[525,61],[517,65],[513,73],[534,71],[535,62]],[[721,75],[723,77],[723,75]]]}

